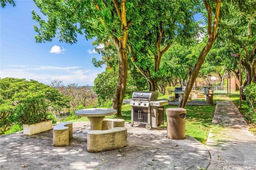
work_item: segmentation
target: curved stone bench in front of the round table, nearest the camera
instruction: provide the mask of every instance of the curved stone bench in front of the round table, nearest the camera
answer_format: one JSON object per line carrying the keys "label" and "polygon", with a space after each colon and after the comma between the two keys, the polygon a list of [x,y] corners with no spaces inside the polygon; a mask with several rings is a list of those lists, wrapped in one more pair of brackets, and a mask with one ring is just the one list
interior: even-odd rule
{"label": "curved stone bench in front of the round table, nearest the camera", "polygon": [[127,129],[114,127],[108,130],[93,130],[87,133],[87,151],[102,152],[127,146]]}

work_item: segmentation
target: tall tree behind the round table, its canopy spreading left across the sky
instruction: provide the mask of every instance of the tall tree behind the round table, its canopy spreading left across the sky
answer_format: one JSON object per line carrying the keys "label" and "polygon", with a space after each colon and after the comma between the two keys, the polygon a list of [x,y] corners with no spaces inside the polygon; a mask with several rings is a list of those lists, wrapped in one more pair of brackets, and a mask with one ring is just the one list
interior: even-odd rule
{"label": "tall tree behind the round table, its canopy spreading left across the sky", "polygon": [[40,25],[39,28],[34,26],[38,33],[35,36],[36,42],[52,41],[57,37],[61,42],[73,44],[77,42],[78,34],[84,34],[86,39],[97,37],[101,43],[112,41],[118,51],[118,83],[112,107],[117,110],[117,115],[121,116],[127,82],[128,29],[132,17],[136,16],[133,15],[132,7],[140,1],[34,0],[34,2],[47,17],[47,20],[43,20],[39,14],[32,11],[33,19]]}

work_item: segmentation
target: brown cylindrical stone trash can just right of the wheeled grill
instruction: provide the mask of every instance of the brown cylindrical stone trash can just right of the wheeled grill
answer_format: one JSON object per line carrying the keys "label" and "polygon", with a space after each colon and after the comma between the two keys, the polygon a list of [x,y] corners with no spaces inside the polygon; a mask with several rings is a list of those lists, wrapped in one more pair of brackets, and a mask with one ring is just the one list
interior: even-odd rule
{"label": "brown cylindrical stone trash can just right of the wheeled grill", "polygon": [[185,139],[185,117],[186,109],[182,108],[167,108],[165,110],[167,117],[167,137],[169,139]]}

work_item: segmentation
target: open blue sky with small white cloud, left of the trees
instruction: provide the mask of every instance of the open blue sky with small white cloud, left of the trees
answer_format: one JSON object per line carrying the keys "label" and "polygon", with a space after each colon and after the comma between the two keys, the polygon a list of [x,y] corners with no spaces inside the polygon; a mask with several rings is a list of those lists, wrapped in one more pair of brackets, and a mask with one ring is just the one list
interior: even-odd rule
{"label": "open blue sky with small white cloud, left of the trees", "polygon": [[93,86],[97,74],[105,70],[96,68],[92,58],[101,59],[83,35],[76,44],[52,42],[36,43],[31,11],[40,13],[32,0],[15,0],[16,6],[7,4],[0,9],[0,78],[14,77],[37,80],[49,84],[63,80],[64,85]]}

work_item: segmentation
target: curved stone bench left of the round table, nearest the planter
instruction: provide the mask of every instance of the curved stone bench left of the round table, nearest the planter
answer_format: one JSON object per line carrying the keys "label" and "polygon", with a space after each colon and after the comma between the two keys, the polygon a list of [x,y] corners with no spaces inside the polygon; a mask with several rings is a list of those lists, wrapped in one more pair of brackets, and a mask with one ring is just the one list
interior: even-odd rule
{"label": "curved stone bench left of the round table, nearest the planter", "polygon": [[53,146],[64,147],[69,145],[69,139],[73,137],[72,122],[58,123],[53,128]]}

